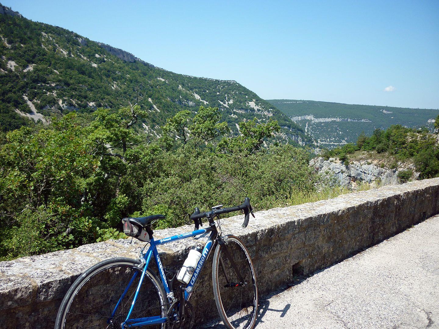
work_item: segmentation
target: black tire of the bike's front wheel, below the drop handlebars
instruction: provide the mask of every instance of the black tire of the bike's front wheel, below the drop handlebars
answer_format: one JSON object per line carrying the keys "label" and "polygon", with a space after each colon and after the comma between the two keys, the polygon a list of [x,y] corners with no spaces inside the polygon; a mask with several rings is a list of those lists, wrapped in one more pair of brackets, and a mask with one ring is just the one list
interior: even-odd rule
{"label": "black tire of the bike's front wheel, below the drop handlebars", "polygon": [[[253,266],[252,258],[250,257],[250,254],[245,247],[244,243],[239,239],[237,236],[234,235],[227,235],[227,239],[231,240],[237,240],[240,247],[245,251],[246,257],[249,261],[249,264],[251,266],[251,272],[254,280],[254,286],[255,286],[255,310],[254,310],[254,318],[252,319],[252,323],[250,326],[248,326],[246,329],[252,329],[254,328],[257,320],[258,315],[258,286],[256,281],[256,274],[255,274],[255,268]],[[215,297],[216,302],[216,308],[218,308],[218,313],[223,320],[224,325],[226,325],[230,329],[235,329],[235,327],[230,323],[229,319],[227,318],[226,312],[223,308],[223,303],[221,301],[221,297],[219,294],[219,286],[218,286],[218,270],[219,270],[219,253],[221,250],[221,244],[217,244],[215,248],[215,254],[213,255],[213,265],[212,265],[212,284],[213,284],[213,295]]]}

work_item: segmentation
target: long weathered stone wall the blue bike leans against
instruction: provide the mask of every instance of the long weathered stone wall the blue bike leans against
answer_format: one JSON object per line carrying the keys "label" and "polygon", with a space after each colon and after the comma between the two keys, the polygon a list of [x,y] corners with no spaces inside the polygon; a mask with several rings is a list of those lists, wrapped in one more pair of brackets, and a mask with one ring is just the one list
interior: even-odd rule
{"label": "long weathered stone wall the blue bike leans against", "polygon": [[[250,250],[263,295],[372,246],[439,213],[439,178],[345,194],[299,206],[257,212],[247,229],[243,216],[223,220],[223,231],[240,236]],[[193,226],[158,230],[155,237]],[[181,264],[191,246],[186,239],[160,248],[166,267]],[[137,257],[140,243],[110,240],[72,250],[0,262],[0,323],[3,328],[52,328],[58,306],[72,282],[98,261]],[[216,317],[212,263],[206,263],[191,303],[196,321]],[[178,267],[178,266],[177,266]],[[203,289],[197,289],[203,286]]]}

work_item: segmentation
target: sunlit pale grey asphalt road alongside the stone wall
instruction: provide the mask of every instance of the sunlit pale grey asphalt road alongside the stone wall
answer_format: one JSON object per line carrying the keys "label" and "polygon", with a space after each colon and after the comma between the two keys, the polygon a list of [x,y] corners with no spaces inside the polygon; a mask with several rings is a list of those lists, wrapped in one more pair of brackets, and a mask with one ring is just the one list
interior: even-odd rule
{"label": "sunlit pale grey asphalt road alongside the stone wall", "polygon": [[439,328],[439,215],[259,303],[257,329]]}

